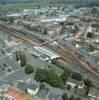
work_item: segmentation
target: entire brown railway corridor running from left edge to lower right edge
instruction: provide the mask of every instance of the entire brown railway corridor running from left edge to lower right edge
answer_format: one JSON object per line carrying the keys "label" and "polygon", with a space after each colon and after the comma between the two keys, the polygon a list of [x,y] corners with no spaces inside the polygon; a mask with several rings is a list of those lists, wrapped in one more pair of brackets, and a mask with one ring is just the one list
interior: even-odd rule
{"label": "entire brown railway corridor running from left edge to lower right edge", "polygon": [[[20,39],[22,41],[29,42],[32,45],[40,45],[40,46],[46,46],[50,48],[51,50],[57,52],[61,56],[61,60],[67,61],[69,63],[75,64],[77,67],[81,67],[83,70],[85,70],[86,74],[91,77],[92,79],[99,82],[99,73],[93,70],[93,66],[90,64],[85,63],[84,61],[81,61],[75,52],[69,48],[65,43],[62,41],[57,41],[57,46],[51,46],[48,43],[41,42],[37,39],[34,39],[33,37],[30,37],[28,35],[25,35],[17,30],[8,28],[7,26],[3,26],[0,24],[0,30],[8,33],[9,35]],[[42,45],[43,44],[43,45]]]}

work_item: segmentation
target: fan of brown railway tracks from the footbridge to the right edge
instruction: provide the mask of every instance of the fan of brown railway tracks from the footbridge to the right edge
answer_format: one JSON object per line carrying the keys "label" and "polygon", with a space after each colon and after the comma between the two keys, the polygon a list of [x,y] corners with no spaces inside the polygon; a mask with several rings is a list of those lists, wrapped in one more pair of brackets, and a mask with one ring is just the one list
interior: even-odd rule
{"label": "fan of brown railway tracks from the footbridge to the right edge", "polygon": [[[60,48],[60,49],[58,49]],[[70,51],[68,47],[63,47],[60,44],[58,45],[58,48],[51,47],[52,50],[56,51],[58,54],[61,55],[61,60],[64,62],[69,62],[71,64],[74,64],[75,66],[81,68],[85,71],[85,74],[87,74],[88,77],[96,80],[99,82],[99,73],[95,72],[91,66],[87,65],[83,61],[80,61],[78,58],[74,57],[73,51]]]}

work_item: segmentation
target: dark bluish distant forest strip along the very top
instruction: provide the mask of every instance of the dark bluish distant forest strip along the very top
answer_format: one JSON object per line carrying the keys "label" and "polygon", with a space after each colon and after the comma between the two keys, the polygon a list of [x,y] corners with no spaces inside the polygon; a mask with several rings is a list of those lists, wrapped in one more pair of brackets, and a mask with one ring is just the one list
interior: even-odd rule
{"label": "dark bluish distant forest strip along the very top", "polygon": [[22,2],[34,2],[34,3],[79,3],[81,5],[89,4],[89,5],[98,5],[99,0],[0,0],[0,4],[7,4],[7,3],[22,3]]}

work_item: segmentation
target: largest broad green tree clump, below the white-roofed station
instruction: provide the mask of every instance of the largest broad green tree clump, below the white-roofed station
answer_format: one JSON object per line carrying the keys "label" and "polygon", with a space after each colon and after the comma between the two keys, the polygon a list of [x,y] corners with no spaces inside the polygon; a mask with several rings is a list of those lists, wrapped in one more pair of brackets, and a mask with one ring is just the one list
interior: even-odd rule
{"label": "largest broad green tree clump, below the white-roofed station", "polygon": [[61,77],[51,70],[37,69],[35,79],[40,82],[47,82],[53,87],[64,88]]}

